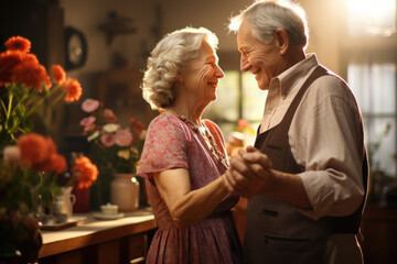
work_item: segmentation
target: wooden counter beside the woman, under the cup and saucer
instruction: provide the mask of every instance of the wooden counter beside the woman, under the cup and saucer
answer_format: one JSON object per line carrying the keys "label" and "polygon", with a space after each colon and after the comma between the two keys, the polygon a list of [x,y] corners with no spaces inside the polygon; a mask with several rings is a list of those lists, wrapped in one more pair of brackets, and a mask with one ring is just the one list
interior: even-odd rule
{"label": "wooden counter beside the woman, under the cup and saucer", "polygon": [[144,263],[157,223],[150,208],[117,220],[96,220],[90,213],[76,227],[42,231],[39,263]]}

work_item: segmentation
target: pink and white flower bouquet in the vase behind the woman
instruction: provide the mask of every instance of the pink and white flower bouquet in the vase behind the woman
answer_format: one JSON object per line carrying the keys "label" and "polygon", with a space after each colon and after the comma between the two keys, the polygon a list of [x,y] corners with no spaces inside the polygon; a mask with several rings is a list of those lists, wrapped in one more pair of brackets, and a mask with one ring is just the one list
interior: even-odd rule
{"label": "pink and white flower bouquet in the vase behind the woman", "polygon": [[89,142],[88,156],[99,167],[94,185],[94,208],[109,201],[109,186],[115,173],[135,174],[143,147],[146,127],[136,119],[122,128],[116,114],[95,99],[86,99],[82,109],[88,116],[81,121]]}

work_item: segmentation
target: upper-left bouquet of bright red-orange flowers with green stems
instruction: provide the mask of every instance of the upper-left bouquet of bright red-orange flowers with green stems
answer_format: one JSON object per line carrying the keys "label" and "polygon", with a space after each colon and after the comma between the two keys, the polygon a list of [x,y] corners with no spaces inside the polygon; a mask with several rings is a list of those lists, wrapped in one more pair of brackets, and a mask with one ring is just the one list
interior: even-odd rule
{"label": "upper-left bouquet of bright red-orange flowers with green stems", "polygon": [[0,148],[32,131],[32,116],[37,111],[47,117],[58,100],[73,102],[82,96],[81,84],[66,78],[62,66],[52,65],[52,75],[47,75],[30,53],[29,40],[10,37],[6,47],[7,51],[0,53]]}

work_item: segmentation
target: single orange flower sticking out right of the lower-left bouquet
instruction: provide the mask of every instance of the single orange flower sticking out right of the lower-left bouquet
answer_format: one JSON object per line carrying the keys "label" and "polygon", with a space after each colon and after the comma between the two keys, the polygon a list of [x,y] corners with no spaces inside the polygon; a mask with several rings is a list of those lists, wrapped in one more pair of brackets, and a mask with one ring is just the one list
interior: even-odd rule
{"label": "single orange flower sticking out right of the lower-left bouquet", "polygon": [[76,183],[78,189],[89,188],[98,177],[98,168],[86,156],[77,157],[71,168],[73,174],[76,174]]}

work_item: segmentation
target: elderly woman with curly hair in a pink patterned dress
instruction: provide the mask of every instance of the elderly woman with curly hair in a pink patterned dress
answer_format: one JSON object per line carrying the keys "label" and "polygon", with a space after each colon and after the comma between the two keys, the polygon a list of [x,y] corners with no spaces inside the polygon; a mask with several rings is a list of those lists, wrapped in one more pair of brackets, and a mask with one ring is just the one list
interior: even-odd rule
{"label": "elderly woman with curly hair in a pink patterned dress", "polygon": [[148,128],[138,175],[159,230],[147,263],[240,263],[242,250],[230,209],[228,167],[218,127],[202,120],[224,76],[217,37],[186,28],[161,40],[148,59],[143,98],[161,114]]}

